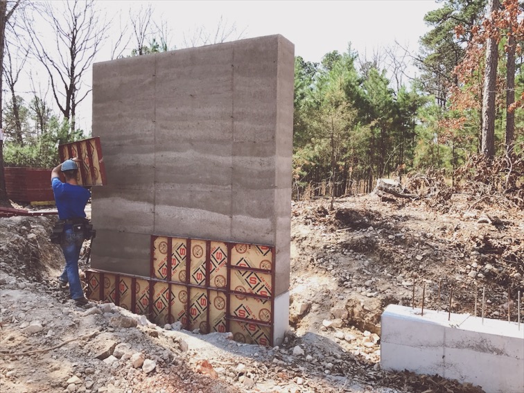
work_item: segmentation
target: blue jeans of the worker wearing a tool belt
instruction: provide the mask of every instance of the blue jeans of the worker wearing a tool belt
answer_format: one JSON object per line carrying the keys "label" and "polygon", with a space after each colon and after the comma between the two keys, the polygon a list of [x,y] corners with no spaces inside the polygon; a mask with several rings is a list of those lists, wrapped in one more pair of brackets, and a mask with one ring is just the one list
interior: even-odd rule
{"label": "blue jeans of the worker wearing a tool belt", "polygon": [[84,232],[74,232],[72,228],[64,229],[60,247],[62,247],[62,252],[64,252],[66,265],[64,272],[60,276],[60,281],[69,283],[71,299],[84,297],[80,276],[78,275],[78,257],[80,256],[80,249],[82,248],[83,242]]}

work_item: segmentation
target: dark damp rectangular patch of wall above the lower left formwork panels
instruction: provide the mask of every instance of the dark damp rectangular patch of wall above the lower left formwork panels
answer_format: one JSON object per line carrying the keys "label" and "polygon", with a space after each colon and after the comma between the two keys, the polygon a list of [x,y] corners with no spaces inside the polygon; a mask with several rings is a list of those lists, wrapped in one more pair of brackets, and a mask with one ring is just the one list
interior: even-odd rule
{"label": "dark damp rectangular patch of wall above the lower left formwork panels", "polygon": [[97,229],[91,249],[91,268],[148,277],[150,234]]}

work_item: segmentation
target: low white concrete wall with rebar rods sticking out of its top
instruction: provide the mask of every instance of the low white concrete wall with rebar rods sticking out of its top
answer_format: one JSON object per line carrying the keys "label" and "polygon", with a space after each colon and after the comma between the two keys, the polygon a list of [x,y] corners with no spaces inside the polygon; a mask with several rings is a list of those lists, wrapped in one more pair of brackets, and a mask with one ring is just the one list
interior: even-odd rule
{"label": "low white concrete wall with rebar rods sticking out of its top", "polygon": [[524,392],[524,324],[390,304],[382,314],[381,366],[438,374],[484,392]]}

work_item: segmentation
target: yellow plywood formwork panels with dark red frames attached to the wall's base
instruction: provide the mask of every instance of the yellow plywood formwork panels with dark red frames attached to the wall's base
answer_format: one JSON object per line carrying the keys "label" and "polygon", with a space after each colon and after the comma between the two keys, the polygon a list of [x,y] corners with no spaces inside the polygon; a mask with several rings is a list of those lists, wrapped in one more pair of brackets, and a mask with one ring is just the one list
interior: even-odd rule
{"label": "yellow plywood formwork panels with dark red frames attached to the wall's base", "polygon": [[[151,236],[150,276],[87,271],[87,296],[200,333],[269,345],[273,337],[274,247]],[[171,255],[171,258],[168,256]]]}

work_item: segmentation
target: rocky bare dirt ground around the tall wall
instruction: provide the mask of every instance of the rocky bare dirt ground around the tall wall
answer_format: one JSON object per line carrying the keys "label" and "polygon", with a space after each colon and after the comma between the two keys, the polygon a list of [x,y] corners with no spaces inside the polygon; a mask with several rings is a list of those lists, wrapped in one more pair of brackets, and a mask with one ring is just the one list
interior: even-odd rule
{"label": "rocky bare dirt ground around the tall wall", "polygon": [[[482,392],[380,367],[380,316],[422,303],[517,317],[524,212],[454,194],[292,203],[290,331],[281,347],[156,326],[111,304],[80,308],[55,277],[54,216],[0,219],[0,391]],[[80,268],[88,267],[85,242]],[[414,291],[413,291],[414,286]],[[414,299],[413,299],[414,292]],[[440,295],[440,297],[439,297]],[[480,304],[478,304],[480,310]]]}

